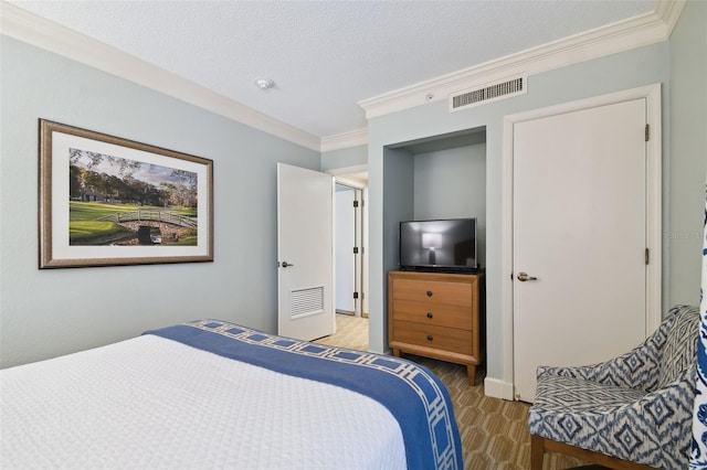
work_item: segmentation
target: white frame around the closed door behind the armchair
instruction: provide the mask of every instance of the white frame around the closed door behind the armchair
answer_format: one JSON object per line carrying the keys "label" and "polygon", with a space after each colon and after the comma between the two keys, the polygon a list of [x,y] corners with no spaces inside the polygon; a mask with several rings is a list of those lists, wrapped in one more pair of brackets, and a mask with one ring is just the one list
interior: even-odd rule
{"label": "white frame around the closed door behind the armchair", "polygon": [[514,125],[562,113],[610,105],[632,99],[646,99],[646,122],[651,127],[646,162],[646,244],[651,260],[646,270],[646,335],[655,331],[662,319],[662,138],[661,138],[661,84],[646,85],[608,95],[550,106],[541,109],[509,115],[504,118],[503,182],[502,182],[502,329],[503,329],[503,377],[486,378],[486,395],[514,399],[514,351],[513,351],[513,168]]}

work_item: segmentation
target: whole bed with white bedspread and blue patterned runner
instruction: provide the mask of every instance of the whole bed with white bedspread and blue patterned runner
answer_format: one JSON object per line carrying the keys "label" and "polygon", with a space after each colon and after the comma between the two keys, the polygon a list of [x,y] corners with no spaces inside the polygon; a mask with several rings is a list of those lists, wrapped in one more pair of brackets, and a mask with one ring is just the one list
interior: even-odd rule
{"label": "whole bed with white bedspread and blue patterned runner", "polygon": [[2,469],[463,468],[429,370],[220,320],[6,368],[0,398]]}

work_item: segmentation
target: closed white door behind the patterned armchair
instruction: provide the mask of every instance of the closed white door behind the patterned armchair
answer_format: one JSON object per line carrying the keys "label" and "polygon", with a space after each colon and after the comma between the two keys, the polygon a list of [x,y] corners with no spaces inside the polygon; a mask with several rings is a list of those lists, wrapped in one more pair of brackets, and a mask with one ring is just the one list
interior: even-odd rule
{"label": "closed white door behind the patterned armchair", "polygon": [[514,125],[516,399],[534,400],[540,364],[590,364],[646,338],[645,106]]}

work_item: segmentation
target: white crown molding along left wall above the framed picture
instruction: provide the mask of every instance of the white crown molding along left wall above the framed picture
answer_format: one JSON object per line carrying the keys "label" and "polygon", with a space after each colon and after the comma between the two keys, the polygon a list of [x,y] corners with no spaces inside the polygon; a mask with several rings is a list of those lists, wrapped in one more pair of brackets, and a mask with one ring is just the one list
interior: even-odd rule
{"label": "white crown molding along left wall above the framed picture", "polygon": [[316,151],[320,149],[321,142],[316,136],[3,0],[0,0],[0,33],[302,147]]}

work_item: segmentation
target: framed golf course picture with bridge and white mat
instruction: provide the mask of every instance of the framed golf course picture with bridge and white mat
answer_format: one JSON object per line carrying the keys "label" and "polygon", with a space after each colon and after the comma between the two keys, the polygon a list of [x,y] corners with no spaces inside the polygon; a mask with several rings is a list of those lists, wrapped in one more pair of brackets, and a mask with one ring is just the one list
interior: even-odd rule
{"label": "framed golf course picture with bridge and white mat", "polygon": [[40,119],[40,269],[213,261],[213,161]]}

